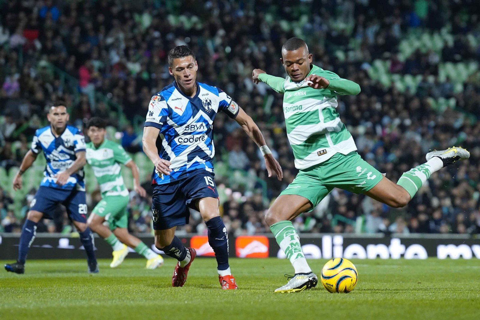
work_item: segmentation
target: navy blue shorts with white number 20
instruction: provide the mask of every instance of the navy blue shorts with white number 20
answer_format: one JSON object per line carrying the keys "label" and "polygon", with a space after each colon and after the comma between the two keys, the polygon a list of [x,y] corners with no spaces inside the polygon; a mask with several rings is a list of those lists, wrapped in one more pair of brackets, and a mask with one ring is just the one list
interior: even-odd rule
{"label": "navy blue shorts with white number 20", "polygon": [[67,208],[70,220],[87,222],[85,191],[62,190],[49,187],[40,187],[36,191],[35,198],[30,204],[30,210],[43,213],[44,217],[53,219],[53,213],[57,204],[61,203]]}

